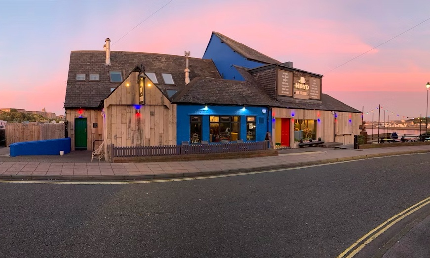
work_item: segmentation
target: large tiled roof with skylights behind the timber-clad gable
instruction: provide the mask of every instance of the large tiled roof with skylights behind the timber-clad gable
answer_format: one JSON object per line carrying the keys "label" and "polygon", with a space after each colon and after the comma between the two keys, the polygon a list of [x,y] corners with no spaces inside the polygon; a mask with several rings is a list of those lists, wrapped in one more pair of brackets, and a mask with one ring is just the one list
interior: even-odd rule
{"label": "large tiled roof with skylights behind the timber-clad gable", "polygon": [[[185,56],[111,51],[111,65],[105,64],[105,51],[72,51],[70,53],[69,74],[64,106],[98,107],[100,102],[111,92],[111,88],[120,83],[111,83],[109,71],[121,71],[123,80],[141,64],[145,72],[155,72],[158,87],[181,89],[185,86]],[[196,77],[220,79],[218,70],[212,60],[190,58],[189,69],[191,80]],[[175,85],[165,85],[161,73],[170,73]],[[76,81],[76,74],[86,74],[86,81]],[[99,74],[100,81],[88,81],[89,74]]]}

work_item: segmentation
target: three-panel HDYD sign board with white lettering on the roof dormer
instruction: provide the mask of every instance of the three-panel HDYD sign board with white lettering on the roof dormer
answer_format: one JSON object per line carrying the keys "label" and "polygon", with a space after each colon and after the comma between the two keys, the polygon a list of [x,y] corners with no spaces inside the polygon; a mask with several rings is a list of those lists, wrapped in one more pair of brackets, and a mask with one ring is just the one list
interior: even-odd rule
{"label": "three-panel HDYD sign board with white lettering on the roof dormer", "polygon": [[278,95],[296,99],[321,99],[321,78],[301,71],[278,70]]}

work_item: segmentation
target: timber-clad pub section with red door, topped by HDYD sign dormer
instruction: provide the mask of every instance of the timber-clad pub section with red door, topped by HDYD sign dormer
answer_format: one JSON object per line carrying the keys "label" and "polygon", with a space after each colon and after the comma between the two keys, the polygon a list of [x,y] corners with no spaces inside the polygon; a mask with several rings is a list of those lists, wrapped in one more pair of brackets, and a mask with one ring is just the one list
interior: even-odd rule
{"label": "timber-clad pub section with red door, topped by HDYD sign dormer", "polygon": [[[322,75],[270,64],[248,72],[274,99],[271,107],[273,144],[297,148],[301,141],[352,144],[361,112],[321,92]],[[264,75],[264,76],[262,76]]]}

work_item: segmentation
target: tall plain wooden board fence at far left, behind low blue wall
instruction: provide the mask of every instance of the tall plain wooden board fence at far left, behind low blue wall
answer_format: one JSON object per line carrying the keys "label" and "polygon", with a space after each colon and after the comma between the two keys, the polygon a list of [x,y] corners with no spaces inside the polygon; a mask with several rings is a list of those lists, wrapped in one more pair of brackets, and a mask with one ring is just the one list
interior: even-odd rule
{"label": "tall plain wooden board fence at far left, behind low blue wall", "polygon": [[6,146],[16,142],[61,139],[64,137],[64,124],[8,123],[6,125]]}

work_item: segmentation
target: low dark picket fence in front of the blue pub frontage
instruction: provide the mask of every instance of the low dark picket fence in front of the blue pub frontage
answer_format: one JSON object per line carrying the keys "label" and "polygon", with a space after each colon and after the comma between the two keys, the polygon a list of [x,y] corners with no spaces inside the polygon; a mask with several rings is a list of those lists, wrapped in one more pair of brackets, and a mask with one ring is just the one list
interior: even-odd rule
{"label": "low dark picket fence in front of the blue pub frontage", "polygon": [[267,150],[267,141],[244,143],[112,147],[113,157],[144,157],[186,154],[211,154]]}

